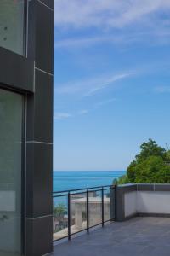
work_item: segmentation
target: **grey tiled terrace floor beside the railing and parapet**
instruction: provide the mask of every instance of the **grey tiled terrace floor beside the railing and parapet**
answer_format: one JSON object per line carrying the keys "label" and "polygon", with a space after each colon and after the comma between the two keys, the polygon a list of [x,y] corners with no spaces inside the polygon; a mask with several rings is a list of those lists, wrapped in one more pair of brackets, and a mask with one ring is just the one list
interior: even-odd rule
{"label": "grey tiled terrace floor beside the railing and parapet", "polygon": [[132,218],[54,247],[54,256],[170,256],[170,218]]}

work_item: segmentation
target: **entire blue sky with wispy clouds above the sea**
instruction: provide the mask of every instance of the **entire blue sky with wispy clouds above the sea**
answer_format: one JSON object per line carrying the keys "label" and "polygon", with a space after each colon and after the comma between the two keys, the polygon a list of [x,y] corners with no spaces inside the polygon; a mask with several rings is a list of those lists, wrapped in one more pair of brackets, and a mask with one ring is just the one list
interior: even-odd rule
{"label": "entire blue sky with wispy clouds above the sea", "polygon": [[54,170],[125,170],[170,144],[170,1],[55,0]]}

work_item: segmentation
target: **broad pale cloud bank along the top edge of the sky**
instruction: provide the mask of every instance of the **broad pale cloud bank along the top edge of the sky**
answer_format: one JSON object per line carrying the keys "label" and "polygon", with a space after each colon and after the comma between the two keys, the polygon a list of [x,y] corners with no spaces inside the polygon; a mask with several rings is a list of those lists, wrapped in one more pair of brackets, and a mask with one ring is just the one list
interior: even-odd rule
{"label": "broad pale cloud bank along the top edge of the sky", "polygon": [[55,25],[120,28],[145,19],[153,25],[154,15],[167,9],[169,0],[55,0]]}

